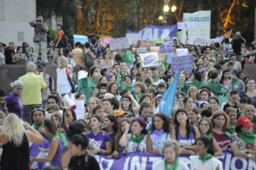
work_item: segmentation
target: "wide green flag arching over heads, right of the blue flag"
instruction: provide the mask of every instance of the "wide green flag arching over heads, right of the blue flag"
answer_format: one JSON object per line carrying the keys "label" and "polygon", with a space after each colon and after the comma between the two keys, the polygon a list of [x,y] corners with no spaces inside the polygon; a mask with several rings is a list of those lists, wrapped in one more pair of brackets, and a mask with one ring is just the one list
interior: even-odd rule
{"label": "wide green flag arching over heads, right of the blue flag", "polygon": [[209,85],[211,87],[211,92],[214,93],[215,96],[218,97],[218,99],[220,100],[220,106],[222,105],[223,102],[228,100],[228,89],[226,89],[225,87],[223,87],[220,84],[216,84],[216,83],[212,83],[209,81],[201,81],[201,82],[192,82],[192,83],[184,83],[180,86],[179,91],[184,92],[185,94],[187,94],[188,89],[191,86],[195,86],[197,87],[197,89],[200,89],[200,87],[202,87],[203,85]]}

